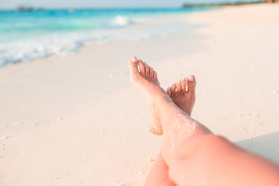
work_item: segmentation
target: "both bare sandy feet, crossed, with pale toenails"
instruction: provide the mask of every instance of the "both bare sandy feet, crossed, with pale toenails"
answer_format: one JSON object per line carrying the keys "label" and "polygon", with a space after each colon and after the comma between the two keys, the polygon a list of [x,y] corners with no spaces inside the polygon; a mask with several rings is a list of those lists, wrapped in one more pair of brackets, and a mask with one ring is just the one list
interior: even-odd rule
{"label": "both bare sandy feet, crossed, with pale toenails", "polygon": [[149,130],[153,134],[163,134],[162,126],[156,107],[160,107],[154,102],[156,99],[163,98],[169,102],[174,102],[181,110],[189,116],[192,113],[195,104],[195,86],[196,81],[193,75],[183,77],[179,82],[172,84],[167,91],[160,87],[160,82],[157,73],[153,68],[138,60],[133,56],[129,62],[131,84],[137,88],[149,102],[149,111],[151,112],[152,124],[149,125]]}

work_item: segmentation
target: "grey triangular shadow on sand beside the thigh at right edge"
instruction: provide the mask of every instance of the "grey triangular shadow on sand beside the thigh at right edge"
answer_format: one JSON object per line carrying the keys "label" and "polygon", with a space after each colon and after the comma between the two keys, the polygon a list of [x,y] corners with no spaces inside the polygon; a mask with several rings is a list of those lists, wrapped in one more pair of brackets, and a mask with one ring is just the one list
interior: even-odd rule
{"label": "grey triangular shadow on sand beside the thigh at right edge", "polygon": [[279,163],[279,132],[236,141],[234,144]]}

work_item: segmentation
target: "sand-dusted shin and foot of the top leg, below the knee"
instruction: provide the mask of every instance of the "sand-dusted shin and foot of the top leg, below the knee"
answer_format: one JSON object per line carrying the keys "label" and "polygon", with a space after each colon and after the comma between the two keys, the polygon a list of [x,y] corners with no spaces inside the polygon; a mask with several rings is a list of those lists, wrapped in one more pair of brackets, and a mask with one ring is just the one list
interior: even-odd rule
{"label": "sand-dusted shin and foot of the top leg, below the knee", "polygon": [[174,149],[183,141],[197,135],[211,134],[206,127],[190,118],[172,102],[169,95],[160,88],[157,76],[154,76],[156,72],[152,70],[151,75],[151,70],[146,70],[151,69],[149,65],[133,57],[130,59],[129,67],[131,83],[144,95],[152,115],[158,121],[153,130],[156,133],[164,133],[162,155],[167,165],[171,162]]}

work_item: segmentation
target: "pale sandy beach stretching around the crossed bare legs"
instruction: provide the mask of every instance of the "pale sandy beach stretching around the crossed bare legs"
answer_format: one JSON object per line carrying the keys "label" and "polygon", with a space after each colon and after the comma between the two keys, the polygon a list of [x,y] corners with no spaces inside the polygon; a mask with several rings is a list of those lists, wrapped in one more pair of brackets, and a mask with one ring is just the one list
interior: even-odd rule
{"label": "pale sandy beach stretching around the crossed bare legs", "polygon": [[165,89],[195,75],[193,118],[279,163],[279,4],[148,24],[158,23],[195,29],[0,68],[0,185],[144,185],[161,137],[130,86],[130,56],[148,62]]}

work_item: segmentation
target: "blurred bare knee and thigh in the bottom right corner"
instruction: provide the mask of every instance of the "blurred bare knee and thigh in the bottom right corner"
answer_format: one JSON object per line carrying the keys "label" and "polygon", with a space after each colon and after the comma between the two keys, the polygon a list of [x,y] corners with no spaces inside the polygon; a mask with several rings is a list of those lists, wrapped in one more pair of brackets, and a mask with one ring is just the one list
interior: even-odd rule
{"label": "blurred bare knee and thigh in the bottom right corner", "polygon": [[200,135],[181,144],[169,166],[176,185],[279,185],[279,167],[223,137]]}

